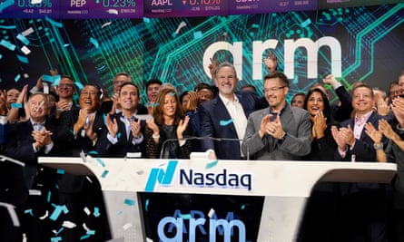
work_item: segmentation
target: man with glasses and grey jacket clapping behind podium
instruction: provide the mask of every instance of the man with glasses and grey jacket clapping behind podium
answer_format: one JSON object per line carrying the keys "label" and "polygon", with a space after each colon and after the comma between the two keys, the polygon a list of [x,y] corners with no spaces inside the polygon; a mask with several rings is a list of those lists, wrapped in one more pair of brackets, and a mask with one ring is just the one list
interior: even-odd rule
{"label": "man with glasses and grey jacket clapping behind podium", "polygon": [[301,160],[310,153],[310,116],[286,102],[289,80],[283,73],[264,77],[269,107],[254,111],[247,121],[241,150],[254,160]]}

